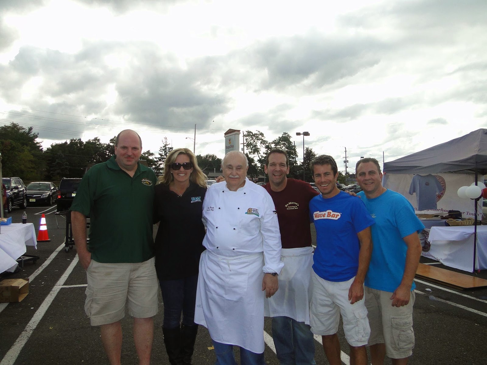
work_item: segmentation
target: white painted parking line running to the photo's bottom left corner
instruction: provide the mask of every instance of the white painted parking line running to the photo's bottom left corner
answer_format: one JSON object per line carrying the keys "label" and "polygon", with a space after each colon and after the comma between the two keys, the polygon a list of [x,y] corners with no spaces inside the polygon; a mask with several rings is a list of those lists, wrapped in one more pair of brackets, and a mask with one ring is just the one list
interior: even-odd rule
{"label": "white painted parking line running to the photo's bottom left corner", "polygon": [[76,255],[75,258],[73,259],[73,262],[69,265],[69,267],[66,269],[64,274],[62,274],[62,276],[57,281],[53,290],[49,292],[49,294],[47,294],[46,299],[44,299],[44,301],[39,306],[39,309],[36,311],[32,319],[30,320],[30,322],[27,324],[27,326],[25,326],[25,329],[22,331],[22,333],[20,333],[20,336],[17,339],[17,341],[15,341],[12,347],[10,347],[8,352],[5,354],[2,361],[0,362],[0,365],[13,365],[15,363],[15,360],[17,360],[20,351],[24,347],[29,337],[32,335],[32,332],[34,332],[34,330],[36,329],[40,320],[48,310],[51,303],[56,298],[57,293],[59,292],[59,290],[61,290],[62,285],[68,278],[69,274],[71,274],[71,272],[73,271],[77,263],[78,263],[78,256]]}

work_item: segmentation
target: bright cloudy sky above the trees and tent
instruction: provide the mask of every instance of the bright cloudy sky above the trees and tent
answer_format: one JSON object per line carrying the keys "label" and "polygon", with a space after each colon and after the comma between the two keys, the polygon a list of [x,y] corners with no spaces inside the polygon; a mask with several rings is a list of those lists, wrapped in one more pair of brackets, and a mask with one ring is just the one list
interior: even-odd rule
{"label": "bright cloudy sky above the trees and tent", "polygon": [[485,0],[0,1],[0,125],[44,147],[308,131],[344,169],[487,128],[486,90]]}

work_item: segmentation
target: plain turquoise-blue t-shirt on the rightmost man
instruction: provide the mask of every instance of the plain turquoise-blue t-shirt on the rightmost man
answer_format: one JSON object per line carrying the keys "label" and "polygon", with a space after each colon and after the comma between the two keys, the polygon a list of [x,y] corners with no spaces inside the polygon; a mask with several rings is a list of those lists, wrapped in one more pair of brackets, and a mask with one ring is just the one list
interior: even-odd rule
{"label": "plain turquoise-blue t-shirt on the rightmost man", "polygon": [[[375,219],[371,227],[374,247],[365,285],[394,292],[401,283],[406,264],[408,246],[403,237],[421,232],[424,225],[414,214],[411,203],[395,191],[386,190],[374,199],[367,199],[363,191],[357,195]],[[411,290],[415,287],[413,282]]]}

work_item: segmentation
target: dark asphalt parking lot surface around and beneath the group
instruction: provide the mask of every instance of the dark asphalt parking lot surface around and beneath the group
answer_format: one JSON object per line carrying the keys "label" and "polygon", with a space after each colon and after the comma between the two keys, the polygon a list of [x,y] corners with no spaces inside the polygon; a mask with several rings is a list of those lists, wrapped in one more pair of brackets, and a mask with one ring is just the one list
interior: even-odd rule
{"label": "dark asphalt parking lot surface around and beneath the group", "polygon": [[[84,313],[85,272],[77,262],[76,250],[64,250],[65,219],[55,216],[54,210],[55,206],[26,209],[36,235],[40,214],[46,214],[51,241],[39,242],[37,250],[27,248],[28,255],[40,257],[35,264],[27,262],[21,271],[1,277],[30,278],[30,291],[20,303],[0,303],[0,365],[108,364],[99,329],[90,326]],[[13,222],[21,221],[22,211],[14,208]],[[422,262],[433,263],[425,258]],[[475,275],[487,279],[486,271]],[[486,364],[487,288],[460,291],[424,279],[417,279],[416,286],[416,346],[409,364]],[[162,309],[160,298],[160,311],[155,318],[153,364],[168,364],[160,329]],[[137,364],[131,319],[126,317],[122,326],[122,364]],[[268,318],[264,331],[265,359],[269,365],[278,365]],[[349,364],[349,349],[341,329],[339,338],[342,362]],[[200,327],[193,364],[213,364],[215,356],[211,346],[207,330]],[[318,341],[315,358],[317,364],[328,364]]]}

